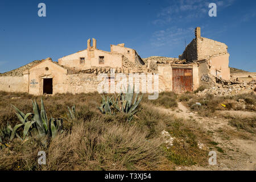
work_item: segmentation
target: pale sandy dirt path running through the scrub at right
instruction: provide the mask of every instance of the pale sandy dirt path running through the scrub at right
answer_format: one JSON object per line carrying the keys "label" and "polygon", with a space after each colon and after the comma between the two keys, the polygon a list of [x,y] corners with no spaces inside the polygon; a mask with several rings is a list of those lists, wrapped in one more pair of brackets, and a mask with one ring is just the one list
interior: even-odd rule
{"label": "pale sandy dirt path running through the scrub at right", "polygon": [[[158,107],[159,109],[159,107]],[[201,117],[192,112],[181,102],[176,110],[160,108],[167,114],[174,114],[177,118],[194,119],[200,123],[203,130],[211,133],[212,140],[224,153],[217,152],[217,165],[181,167],[182,170],[256,170],[256,136],[246,131],[237,130],[228,125],[228,119],[218,117]],[[222,114],[225,114],[222,112]],[[230,113],[228,113],[230,114]]]}

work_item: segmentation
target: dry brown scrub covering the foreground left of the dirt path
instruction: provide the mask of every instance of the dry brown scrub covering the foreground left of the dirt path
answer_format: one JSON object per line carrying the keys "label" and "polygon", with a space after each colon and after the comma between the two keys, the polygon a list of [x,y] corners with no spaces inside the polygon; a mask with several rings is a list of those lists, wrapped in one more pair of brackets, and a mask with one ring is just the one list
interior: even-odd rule
{"label": "dry brown scrub covering the foreground left of the dirt path", "polygon": [[[0,92],[0,127],[7,122],[18,123],[14,109],[23,113],[32,111],[31,100],[41,96],[24,93]],[[208,151],[199,149],[198,139],[210,139],[193,121],[170,117],[153,109],[152,105],[175,107],[177,95],[162,93],[159,101],[148,101],[147,96],[138,107],[131,122],[127,115],[102,114],[98,93],[56,94],[42,96],[48,117],[64,118],[64,132],[42,142],[42,138],[28,135],[25,140],[14,138],[0,146],[0,169],[4,170],[150,170],[175,169],[176,165],[207,164]],[[171,101],[171,104],[166,100]],[[76,119],[69,121],[67,106],[76,106]],[[175,137],[167,147],[161,132]],[[21,131],[18,130],[18,134]],[[4,145],[5,144],[5,145]],[[47,164],[39,166],[38,152],[46,151]]]}

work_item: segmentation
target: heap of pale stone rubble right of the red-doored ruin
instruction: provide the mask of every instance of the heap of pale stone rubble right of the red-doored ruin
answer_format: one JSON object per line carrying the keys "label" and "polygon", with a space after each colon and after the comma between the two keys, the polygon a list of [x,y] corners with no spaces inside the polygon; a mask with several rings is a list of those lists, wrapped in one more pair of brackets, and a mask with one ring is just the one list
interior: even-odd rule
{"label": "heap of pale stone rubble right of the red-doored ruin", "polygon": [[202,92],[196,93],[197,96],[213,94],[218,96],[228,96],[230,94],[240,93],[256,93],[256,80],[250,82],[225,81],[220,77],[216,77],[216,83],[209,89],[204,89]]}

